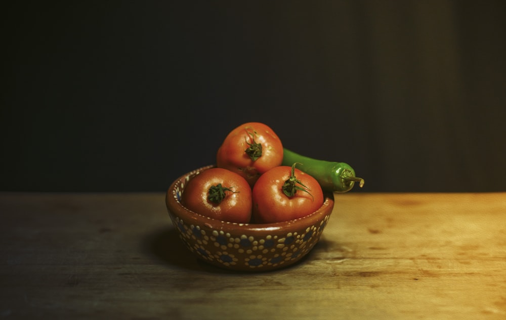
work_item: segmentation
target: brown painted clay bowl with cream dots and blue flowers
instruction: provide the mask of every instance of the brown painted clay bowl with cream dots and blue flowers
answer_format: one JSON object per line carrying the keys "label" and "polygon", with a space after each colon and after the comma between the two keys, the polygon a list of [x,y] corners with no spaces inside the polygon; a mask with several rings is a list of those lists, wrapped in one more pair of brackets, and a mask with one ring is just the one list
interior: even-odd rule
{"label": "brown painted clay bowl with cream dots and blue flowers", "polygon": [[190,211],[180,202],[186,183],[213,167],[179,177],[165,197],[179,237],[197,258],[229,270],[267,271],[292,265],[313,249],[332,213],[332,193],[325,193],[320,209],[303,218],[269,224],[220,221]]}

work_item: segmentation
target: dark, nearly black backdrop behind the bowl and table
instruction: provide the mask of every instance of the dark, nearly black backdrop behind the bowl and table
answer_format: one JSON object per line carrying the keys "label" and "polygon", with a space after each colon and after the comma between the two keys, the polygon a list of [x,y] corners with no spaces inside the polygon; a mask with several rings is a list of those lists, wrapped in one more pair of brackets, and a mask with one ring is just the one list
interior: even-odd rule
{"label": "dark, nearly black backdrop behind the bowl and table", "polygon": [[12,2],[3,191],[165,191],[264,122],[376,191],[506,191],[506,2]]}

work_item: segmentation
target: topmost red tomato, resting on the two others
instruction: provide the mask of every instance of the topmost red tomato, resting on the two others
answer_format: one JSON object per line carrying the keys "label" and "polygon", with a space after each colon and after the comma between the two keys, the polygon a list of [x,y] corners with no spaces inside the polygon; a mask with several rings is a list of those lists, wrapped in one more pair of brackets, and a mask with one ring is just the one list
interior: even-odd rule
{"label": "topmost red tomato, resting on the two others", "polygon": [[252,187],[267,170],[280,166],[283,145],[267,125],[248,122],[233,129],[216,156],[216,166],[243,176]]}

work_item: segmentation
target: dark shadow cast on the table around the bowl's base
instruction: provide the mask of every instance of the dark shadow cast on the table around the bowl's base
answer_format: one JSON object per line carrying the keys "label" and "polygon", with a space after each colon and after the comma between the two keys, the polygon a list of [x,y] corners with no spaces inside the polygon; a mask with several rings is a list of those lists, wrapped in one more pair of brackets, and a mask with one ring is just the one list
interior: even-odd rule
{"label": "dark shadow cast on the table around the bowl's base", "polygon": [[[312,251],[324,250],[328,247],[325,239],[315,245]],[[170,265],[172,267],[178,267],[186,270],[196,270],[213,273],[237,273],[237,274],[251,274],[248,271],[231,271],[222,269],[214,265],[208,264],[203,260],[196,258],[183,244],[179,238],[178,232],[173,227],[165,227],[153,231],[147,234],[143,239],[143,251],[154,256],[158,261],[163,264]],[[305,257],[299,260],[297,263],[288,266],[287,268],[296,268],[303,264],[307,259],[311,259],[312,252],[309,252]],[[272,270],[272,271],[259,271],[259,272],[278,272],[283,269]],[[255,272],[255,273],[259,273]]]}

